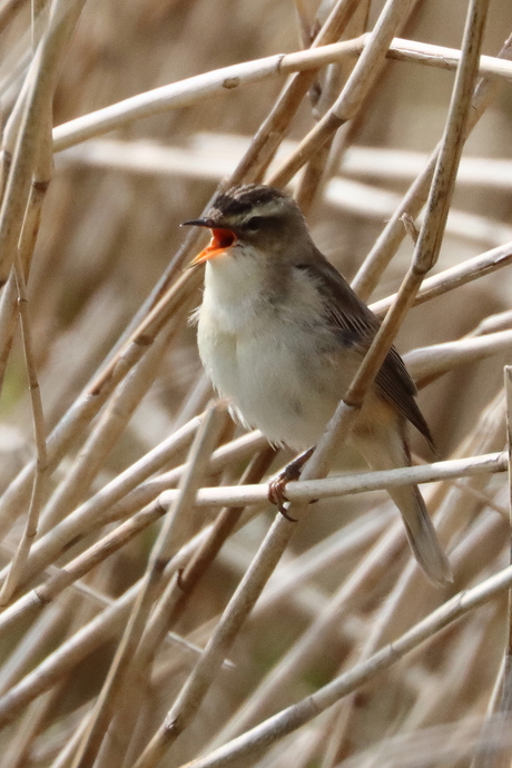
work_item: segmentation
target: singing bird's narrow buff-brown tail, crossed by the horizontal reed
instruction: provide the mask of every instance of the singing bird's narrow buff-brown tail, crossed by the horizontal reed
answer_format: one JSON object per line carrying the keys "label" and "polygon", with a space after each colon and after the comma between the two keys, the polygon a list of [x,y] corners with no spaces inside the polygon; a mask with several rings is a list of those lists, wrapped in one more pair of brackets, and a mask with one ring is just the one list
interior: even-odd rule
{"label": "singing bird's narrow buff-brown tail, crossed by the horizontal reed", "polygon": [[[368,434],[355,431],[354,444],[373,470],[392,470],[411,465],[405,425],[377,429]],[[437,539],[417,485],[388,489],[388,494],[402,513],[408,543],[416,561],[430,581],[446,584],[453,581],[450,563]]]}

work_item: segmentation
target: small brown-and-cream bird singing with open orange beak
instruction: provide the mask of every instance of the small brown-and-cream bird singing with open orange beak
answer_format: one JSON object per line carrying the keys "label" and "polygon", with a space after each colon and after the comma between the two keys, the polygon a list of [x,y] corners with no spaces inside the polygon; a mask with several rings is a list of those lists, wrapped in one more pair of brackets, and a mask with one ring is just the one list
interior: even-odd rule
{"label": "small brown-and-cream bird singing with open orange beak", "polygon": [[[274,445],[311,451],[378,331],[377,317],[315,246],[295,200],[277,188],[234,186],[185,225],[211,233],[189,265],[205,264],[194,321],[211,384],[244,426]],[[407,422],[433,445],[415,395],[391,347],[351,431],[372,470],[411,465]],[[450,564],[417,485],[388,493],[421,569],[446,584]]]}

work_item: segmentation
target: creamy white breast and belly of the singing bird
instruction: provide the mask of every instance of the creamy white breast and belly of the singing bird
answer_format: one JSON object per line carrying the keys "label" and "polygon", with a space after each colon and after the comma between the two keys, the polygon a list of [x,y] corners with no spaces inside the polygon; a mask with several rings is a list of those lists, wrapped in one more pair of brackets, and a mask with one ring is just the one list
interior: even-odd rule
{"label": "creamy white breast and belly of the singing bird", "polygon": [[337,355],[319,353],[314,323],[299,322],[318,316],[314,286],[297,285],[289,312],[276,313],[254,265],[230,256],[206,265],[199,354],[215,388],[247,426],[303,450],[318,440],[343,394]]}

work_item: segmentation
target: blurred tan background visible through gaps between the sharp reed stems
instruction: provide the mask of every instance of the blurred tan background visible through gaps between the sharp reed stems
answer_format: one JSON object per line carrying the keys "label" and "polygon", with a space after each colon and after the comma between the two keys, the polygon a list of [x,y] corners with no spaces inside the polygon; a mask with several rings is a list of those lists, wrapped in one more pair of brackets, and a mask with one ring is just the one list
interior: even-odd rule
{"label": "blurred tan background visible through gaps between the sharp reed stems", "polygon": [[[0,95],[4,119],[19,93],[26,72],[23,62],[27,62],[30,51],[29,3],[8,3],[4,0],[3,7],[0,6],[0,19],[7,18],[6,14],[2,17],[2,9],[4,12],[8,4],[12,8],[0,33]],[[344,38],[372,29],[382,7],[381,1],[361,0]],[[297,3],[292,0],[131,0],[129,3],[88,0],[59,68],[53,125],[208,70],[298,50],[304,46],[301,27],[313,28],[317,23],[315,19],[325,20],[329,9],[328,2],[318,9],[314,0]],[[419,0],[401,35],[407,39],[460,48],[465,12],[464,2]],[[510,0],[492,0],[483,52],[496,56],[511,32]],[[338,78],[339,86],[347,75],[347,66],[345,63],[332,72],[333,78]],[[197,106],[128,124],[122,130],[56,155],[28,284],[36,362],[48,430],[72,405],[117,344],[183,244],[185,235],[179,224],[197,217],[217,184],[233,173],[283,85],[284,80],[277,78],[244,85],[226,90],[221,96],[206,98]],[[316,244],[347,279],[357,273],[385,223],[442,137],[452,86],[451,71],[388,61],[364,108],[347,126],[336,161],[332,164],[328,177],[318,185],[318,193],[308,209],[308,223]],[[292,121],[275,167],[314,124],[315,109],[312,100],[305,98]],[[512,87],[510,81],[503,81],[465,146],[436,272],[512,242],[511,147]],[[292,185],[291,189],[294,188]],[[412,250],[412,242],[405,238],[371,301],[396,291]],[[400,351],[405,353],[470,334],[489,316],[510,309],[511,291],[512,278],[510,267],[506,267],[414,308],[400,333]],[[200,293],[197,292],[195,304],[199,301]],[[492,408],[499,411],[493,432],[495,447],[482,449],[481,452],[504,446],[505,422],[500,392],[503,365],[510,362],[509,347],[480,363],[459,366],[422,390],[420,404],[441,459],[460,452],[463,441],[472,436],[476,442],[470,452],[477,453],[475,434],[481,437],[479,430],[484,429],[482,424],[486,419],[493,417]],[[105,456],[100,471],[91,479],[86,499],[188,417],[200,413],[211,396],[203,380],[195,329],[186,322],[177,325],[154,378],[126,429]],[[238,430],[236,434],[240,433]],[[484,443],[483,437],[482,441]],[[420,441],[414,446],[425,460],[431,460]],[[33,455],[29,392],[19,335],[10,355],[0,400],[0,451],[3,491]],[[50,481],[47,496],[57,491],[76,455],[76,451],[68,452]],[[283,461],[284,456],[280,456],[278,463]],[[358,457],[351,453],[346,462],[348,467],[363,469]],[[220,482],[227,483],[228,477]],[[450,490],[435,493],[432,495],[433,509],[449,503]],[[477,493],[486,495],[476,502]],[[484,488],[482,482],[475,494],[471,496],[471,504],[477,508],[469,513],[471,524],[489,524],[490,528],[481,534],[480,548],[467,545],[469,559],[461,555],[462,564],[454,589],[473,583],[474,579],[506,563],[506,525],[500,516],[508,505],[504,481],[491,480],[489,488]],[[467,511],[471,504],[465,499]],[[491,509],[493,504],[498,511]],[[393,509],[384,493],[344,500],[344,524],[356,520],[357,515],[372,514],[378,505],[383,514],[390,514]],[[308,525],[298,531],[284,565],[289,565],[312,544],[322,542],[324,536],[334,534],[339,525],[335,514],[337,510],[337,503],[317,504],[312,510]],[[492,524],[488,523],[488,518]],[[19,540],[23,520],[23,516],[19,518],[9,532],[7,544],[11,550]],[[190,611],[180,620],[179,632],[188,633],[201,628],[199,644],[206,642],[208,628],[213,627],[206,622],[223,610],[270,520],[272,513],[267,511],[237,534],[201,583]],[[453,542],[460,544],[463,541],[470,522],[461,525],[462,529],[457,529],[455,523],[449,526],[449,533],[454,535],[453,545]],[[91,533],[90,541],[95,535]],[[92,571],[88,577],[89,583],[109,598],[122,593],[142,573],[154,536],[155,531],[148,529]],[[479,541],[476,533],[475,536]],[[361,545],[362,550],[366,551],[365,548],[374,541],[375,536],[370,536]],[[302,584],[293,595],[276,598],[248,622],[233,651],[235,672],[221,675],[208,695],[198,721],[161,765],[178,766],[191,759],[197,754],[197,740],[206,745],[221,729],[265,673],[302,637],[319,607],[328,602],[338,584],[356,568],[361,551],[354,547],[332,568],[323,570],[318,565],[311,582]],[[322,562],[322,551],[317,557]],[[403,550],[397,565],[403,567],[406,558]],[[8,559],[4,551],[3,562]],[[325,562],[328,564],[328,560]],[[343,664],[349,666],[355,661],[371,633],[374,612],[382,604],[383,595],[392,592],[397,578],[397,571],[392,569],[381,574],[375,583],[370,580],[362,585],[355,605],[353,597],[343,603],[343,618],[339,618],[344,622],[343,630],[338,627],[326,630],[325,644],[319,646],[323,650],[317,656],[309,656],[308,662],[289,681],[282,701],[276,695],[275,708],[315,690]],[[421,577],[419,581],[417,605],[410,613],[405,611],[402,620],[396,620],[396,632],[442,601],[443,595],[424,584]],[[32,648],[31,653],[23,657],[13,678],[9,680],[6,677],[7,687],[37,668],[41,659],[89,621],[96,610],[82,605],[83,616],[73,616],[71,621],[62,604],[58,619],[48,623],[43,647],[37,652]],[[352,701],[351,730],[341,744],[333,746],[329,765],[337,765],[342,759],[368,749],[386,735],[400,731],[402,726],[404,732],[410,732],[466,715],[482,715],[500,664],[504,641],[503,613],[504,601],[488,605],[475,623],[464,620],[462,626],[440,636],[421,658],[416,654],[406,666],[395,668],[386,678],[385,690],[380,688],[381,680],[377,686],[372,683],[367,692],[362,691],[360,698]],[[382,641],[387,633],[387,630],[383,632]],[[14,644],[12,639],[4,643],[6,663],[8,659],[12,661],[11,654],[23,638],[28,642],[27,637],[26,630],[20,629]],[[99,690],[115,644],[115,639],[100,643],[68,672],[61,680],[59,702],[47,708],[24,751],[19,750],[16,759],[12,751],[6,752],[10,755],[10,766],[57,765],[53,760],[71,738],[87,702]],[[332,653],[326,648],[332,649]],[[174,656],[170,662],[173,653],[176,653],[175,649],[166,647],[158,661],[160,666],[156,664],[152,671],[150,715],[145,711],[142,721],[150,732],[173,702],[191,664],[186,653],[179,659]],[[460,662],[463,660],[463,669],[455,668],[457,659]],[[452,688],[452,697],[446,699],[445,706],[446,689],[440,690],[443,680]],[[0,683],[2,681],[0,677]],[[264,713],[273,709],[270,707]],[[19,746],[17,739],[22,722],[19,718],[26,716],[27,712],[17,713],[0,735],[0,744],[6,750],[12,744]],[[341,728],[334,719],[324,719],[321,725],[331,736],[333,730]],[[270,754],[265,758],[267,762],[262,759],[258,765],[326,767],[327,758],[316,727],[312,726],[303,733],[307,749],[304,748],[301,759],[297,755],[291,757],[294,754],[286,751],[292,748],[291,741],[285,740],[280,751]],[[140,733],[138,738],[144,741]],[[323,738],[327,738],[325,733]],[[298,744],[296,740],[295,748]],[[134,749],[136,752],[137,748]],[[422,760],[425,759],[422,755]],[[452,756],[452,759],[456,760],[457,756]],[[122,765],[132,765],[130,760],[128,752]],[[445,758],[443,765],[449,764],[449,758]],[[0,766],[7,768],[1,760]]]}

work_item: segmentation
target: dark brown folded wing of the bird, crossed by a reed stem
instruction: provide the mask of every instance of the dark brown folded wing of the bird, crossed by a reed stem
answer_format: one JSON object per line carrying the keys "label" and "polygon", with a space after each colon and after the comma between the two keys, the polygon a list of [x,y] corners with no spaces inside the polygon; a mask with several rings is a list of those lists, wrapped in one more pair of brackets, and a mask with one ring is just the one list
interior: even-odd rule
{"label": "dark brown folded wing of the bird, crossed by a reed stem", "polygon": [[[324,295],[327,319],[341,344],[360,346],[365,352],[378,329],[378,319],[319,252],[315,262],[296,266],[311,275]],[[381,394],[433,445],[429,425],[414,400],[416,387],[395,347],[387,353],[375,383]]]}

